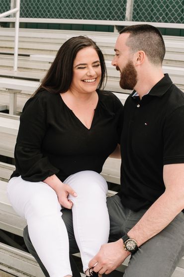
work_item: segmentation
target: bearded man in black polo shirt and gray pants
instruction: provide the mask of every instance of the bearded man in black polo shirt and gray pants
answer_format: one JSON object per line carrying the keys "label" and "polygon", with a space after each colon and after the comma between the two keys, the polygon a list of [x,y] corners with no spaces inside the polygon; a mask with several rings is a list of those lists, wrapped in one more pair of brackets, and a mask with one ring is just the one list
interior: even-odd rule
{"label": "bearded man in black polo shirt and gray pants", "polygon": [[[120,86],[134,91],[124,105],[121,192],[107,198],[109,243],[89,267],[109,274],[131,255],[124,277],[171,277],[184,255],[184,93],[163,73],[157,28],[125,27],[114,50]],[[71,211],[63,219],[75,253]],[[26,230],[24,239],[36,258]]]}

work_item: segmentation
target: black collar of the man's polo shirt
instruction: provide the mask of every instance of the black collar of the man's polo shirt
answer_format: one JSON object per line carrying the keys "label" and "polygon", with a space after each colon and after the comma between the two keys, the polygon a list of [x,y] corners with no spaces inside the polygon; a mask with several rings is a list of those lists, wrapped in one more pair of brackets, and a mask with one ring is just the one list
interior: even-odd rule
{"label": "black collar of the man's polo shirt", "polygon": [[[166,73],[164,74],[164,77],[151,88],[148,94],[161,97],[167,92],[167,90],[172,86],[172,84],[173,84],[172,80],[170,79],[168,73]],[[138,96],[138,94],[134,90],[131,96],[136,97]]]}

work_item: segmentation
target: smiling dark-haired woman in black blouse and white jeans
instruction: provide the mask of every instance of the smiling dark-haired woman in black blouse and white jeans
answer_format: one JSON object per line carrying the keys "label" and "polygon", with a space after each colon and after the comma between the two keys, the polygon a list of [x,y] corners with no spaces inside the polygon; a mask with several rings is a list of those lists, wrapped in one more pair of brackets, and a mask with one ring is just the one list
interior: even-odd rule
{"label": "smiling dark-haired woman in black blouse and white jeans", "polygon": [[105,73],[97,45],[88,37],[70,38],[20,116],[8,196],[26,218],[50,277],[72,276],[61,206],[72,208],[86,275],[108,241],[107,184],[99,173],[118,145],[123,107],[113,93],[100,91]]}

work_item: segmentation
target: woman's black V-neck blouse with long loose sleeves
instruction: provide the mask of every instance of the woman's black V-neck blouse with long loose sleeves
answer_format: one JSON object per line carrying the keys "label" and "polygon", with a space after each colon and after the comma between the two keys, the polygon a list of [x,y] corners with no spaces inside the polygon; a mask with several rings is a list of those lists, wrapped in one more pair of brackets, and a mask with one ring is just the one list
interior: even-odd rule
{"label": "woman's black V-neck blouse with long loose sleeves", "polygon": [[123,105],[111,92],[97,91],[98,103],[88,129],[60,94],[41,91],[30,98],[20,116],[15,145],[16,170],[30,182],[56,174],[64,181],[83,170],[100,173],[120,141]]}

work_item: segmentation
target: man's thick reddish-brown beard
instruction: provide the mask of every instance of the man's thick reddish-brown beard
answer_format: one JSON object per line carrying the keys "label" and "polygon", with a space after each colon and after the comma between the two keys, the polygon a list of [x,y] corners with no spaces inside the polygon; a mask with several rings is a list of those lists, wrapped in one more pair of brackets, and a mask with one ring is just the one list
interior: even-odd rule
{"label": "man's thick reddish-brown beard", "polygon": [[[116,66],[117,70],[120,70]],[[119,85],[123,89],[133,90],[137,83],[137,71],[133,65],[132,61],[128,61],[125,67],[121,70]]]}

